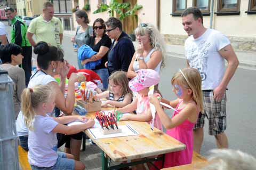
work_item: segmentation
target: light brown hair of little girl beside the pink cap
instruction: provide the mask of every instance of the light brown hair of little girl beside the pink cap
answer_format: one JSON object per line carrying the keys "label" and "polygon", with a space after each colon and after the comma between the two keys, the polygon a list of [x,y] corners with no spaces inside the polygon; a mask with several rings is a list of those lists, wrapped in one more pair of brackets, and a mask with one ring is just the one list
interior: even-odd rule
{"label": "light brown hair of little girl beside the pink cap", "polygon": [[[122,95],[125,95],[125,94],[131,94],[132,95],[132,91],[129,88],[129,85],[128,85],[129,81],[128,81],[128,78],[126,76],[125,71],[115,71],[115,72],[113,72],[108,77],[108,82],[109,82],[109,80],[112,80],[115,85],[121,86]],[[108,87],[108,89],[110,90],[110,86]]]}

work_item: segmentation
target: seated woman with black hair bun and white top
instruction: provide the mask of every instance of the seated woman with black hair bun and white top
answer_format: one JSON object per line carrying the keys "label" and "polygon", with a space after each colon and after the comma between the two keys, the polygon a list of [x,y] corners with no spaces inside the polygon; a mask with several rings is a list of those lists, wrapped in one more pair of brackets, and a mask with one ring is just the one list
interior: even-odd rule
{"label": "seated woman with black hair bun and white top", "polygon": [[[78,80],[76,74],[71,74],[68,80],[68,91],[65,98],[65,80],[69,71],[69,63],[63,59],[63,52],[55,46],[48,46],[45,42],[39,42],[34,47],[37,55],[37,66],[39,69],[30,77],[28,88],[36,85],[50,85],[55,91],[55,107],[59,108],[67,115],[71,115],[75,104],[75,82]],[[60,75],[60,85],[54,79],[55,75]],[[52,116],[53,113],[49,113]],[[17,135],[20,138],[21,147],[28,150],[28,128],[24,123],[22,112],[19,112],[17,122]],[[65,151],[74,155],[75,160],[79,160],[79,153],[82,143],[82,132],[74,135],[57,134],[58,148],[66,143]],[[71,139],[71,141],[70,141]],[[71,143],[71,145],[70,145]]]}

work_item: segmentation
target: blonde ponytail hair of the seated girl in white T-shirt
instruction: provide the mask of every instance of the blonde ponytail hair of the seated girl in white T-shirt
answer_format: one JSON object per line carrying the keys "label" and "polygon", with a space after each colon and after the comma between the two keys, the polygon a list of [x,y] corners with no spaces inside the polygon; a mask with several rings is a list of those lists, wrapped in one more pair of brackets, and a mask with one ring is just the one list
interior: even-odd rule
{"label": "blonde ponytail hair of the seated girl in white T-shirt", "polygon": [[33,130],[33,120],[36,115],[34,109],[40,103],[46,103],[54,93],[49,85],[37,85],[33,88],[25,88],[21,94],[21,111],[25,119],[25,125]]}

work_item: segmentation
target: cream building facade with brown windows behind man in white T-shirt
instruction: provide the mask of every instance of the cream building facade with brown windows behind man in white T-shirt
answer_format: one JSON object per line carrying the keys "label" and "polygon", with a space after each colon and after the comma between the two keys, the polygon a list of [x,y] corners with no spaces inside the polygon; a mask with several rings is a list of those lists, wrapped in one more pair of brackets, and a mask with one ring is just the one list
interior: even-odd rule
{"label": "cream building facade with brown windows behind man in white T-shirt", "polygon": [[[180,14],[187,7],[197,6],[203,12],[204,26],[219,30],[227,35],[236,51],[256,51],[255,1],[161,0],[158,1],[159,30],[164,35],[167,43],[183,45],[187,34],[183,30]],[[142,9],[142,13],[143,10],[145,8]],[[140,14],[139,17],[143,17],[143,15]]]}

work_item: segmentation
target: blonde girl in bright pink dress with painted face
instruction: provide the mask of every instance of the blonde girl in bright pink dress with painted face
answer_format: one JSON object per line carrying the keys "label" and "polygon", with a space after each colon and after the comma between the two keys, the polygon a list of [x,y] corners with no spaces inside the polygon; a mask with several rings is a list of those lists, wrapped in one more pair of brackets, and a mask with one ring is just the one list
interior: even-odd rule
{"label": "blonde girl in bright pink dress with painted face", "polygon": [[[176,109],[172,118],[164,112],[159,100],[154,95],[149,98],[150,103],[156,107],[162,124],[167,129],[166,133],[186,144],[185,150],[165,154],[164,168],[191,163],[193,156],[193,127],[197,122],[199,111],[203,110],[202,80],[197,69],[185,68],[180,70],[172,77],[171,83],[174,87],[172,91],[177,95],[178,99],[173,101],[160,100]],[[162,168],[162,164],[160,164],[157,165],[156,163],[155,165],[158,168]]]}

